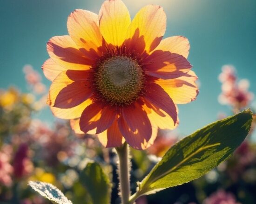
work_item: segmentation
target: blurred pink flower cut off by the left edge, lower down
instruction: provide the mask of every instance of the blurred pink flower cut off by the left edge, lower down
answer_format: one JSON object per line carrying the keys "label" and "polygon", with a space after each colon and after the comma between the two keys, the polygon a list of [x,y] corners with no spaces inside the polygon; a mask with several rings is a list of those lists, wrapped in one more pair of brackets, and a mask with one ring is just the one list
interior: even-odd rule
{"label": "blurred pink flower cut off by the left edge, lower down", "polygon": [[0,150],[0,184],[10,187],[13,183],[12,173],[13,167],[10,164],[10,155],[5,148]]}

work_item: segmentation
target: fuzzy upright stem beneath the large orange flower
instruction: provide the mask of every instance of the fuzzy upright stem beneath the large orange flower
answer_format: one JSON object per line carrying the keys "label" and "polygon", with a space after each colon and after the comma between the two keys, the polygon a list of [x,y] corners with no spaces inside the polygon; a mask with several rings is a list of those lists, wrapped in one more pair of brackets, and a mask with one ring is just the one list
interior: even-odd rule
{"label": "fuzzy upright stem beneath the large orange flower", "polygon": [[116,147],[116,152],[119,158],[118,176],[119,190],[122,204],[128,204],[130,197],[130,156],[129,147],[125,142],[123,146]]}

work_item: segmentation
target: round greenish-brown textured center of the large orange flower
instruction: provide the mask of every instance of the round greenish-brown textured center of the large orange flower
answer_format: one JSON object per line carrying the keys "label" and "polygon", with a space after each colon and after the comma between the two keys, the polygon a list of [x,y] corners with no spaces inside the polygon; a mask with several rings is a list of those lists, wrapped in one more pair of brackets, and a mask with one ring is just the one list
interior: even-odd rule
{"label": "round greenish-brown textured center of the large orange flower", "polygon": [[114,56],[98,66],[95,84],[103,99],[111,105],[129,105],[143,90],[144,74],[136,60]]}

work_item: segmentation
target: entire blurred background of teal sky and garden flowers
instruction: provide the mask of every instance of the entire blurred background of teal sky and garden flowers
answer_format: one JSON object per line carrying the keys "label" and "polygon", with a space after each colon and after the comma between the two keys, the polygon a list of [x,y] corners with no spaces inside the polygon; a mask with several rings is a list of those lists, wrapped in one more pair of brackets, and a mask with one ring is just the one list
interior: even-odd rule
{"label": "entire blurred background of teal sky and garden flowers", "polygon": [[[171,135],[172,140],[167,142],[169,147],[177,138],[190,134],[216,119],[232,115],[243,108],[256,108],[253,94],[256,93],[255,0],[123,1],[132,17],[147,4],[163,6],[168,17],[164,38],[183,35],[190,41],[189,62],[199,77],[200,93],[194,102],[179,105],[180,125],[175,133],[161,133],[165,135],[164,139],[166,135]],[[81,145],[84,138],[74,140],[66,122],[54,118],[45,106],[50,82],[43,77],[41,71],[41,65],[48,58],[46,43],[49,38],[67,34],[67,16],[77,8],[98,13],[102,2],[0,0],[0,203],[15,204],[21,203],[21,200],[24,201],[22,204],[45,202],[32,197],[31,191],[26,187],[27,179],[39,178],[61,186],[69,198],[78,199],[80,197],[77,195],[81,196],[84,192],[77,190],[74,196],[71,190],[80,189],[80,184],[76,181],[79,165],[82,165],[79,161],[97,157],[104,164],[108,164],[105,166],[107,172],[115,168],[115,159],[113,160],[111,152],[101,150],[99,144],[88,135],[84,136],[86,142]],[[239,93],[239,96],[234,96],[234,93]],[[251,132],[250,141],[256,141],[255,132]],[[44,135],[43,139],[41,135]],[[156,147],[161,149],[162,144],[166,143],[166,140],[163,141],[159,141],[159,147]],[[256,175],[253,163],[256,151],[255,147],[248,143],[251,142],[241,147],[241,151],[230,161],[231,164],[221,166],[193,184],[163,191],[162,194],[157,194],[158,197],[154,195],[148,199],[142,198],[141,204],[219,204],[219,198],[229,199],[234,204],[256,203],[255,195],[247,193],[248,189],[256,186],[253,180],[256,178],[252,178],[253,174]],[[89,148],[85,152],[83,147],[88,145]],[[58,148],[53,151],[52,147]],[[161,156],[159,149],[150,150],[149,153]],[[139,179],[154,161],[145,159],[144,153],[136,154],[141,157],[135,158],[133,163],[135,168],[142,168],[142,172],[135,171],[133,178]],[[141,166],[141,158],[148,163],[144,162]],[[14,161],[17,160],[22,162],[16,164]],[[230,166],[239,171],[234,172]],[[249,172],[245,174],[248,169]],[[246,176],[241,177],[241,172]],[[22,179],[25,179],[24,184],[19,186],[17,183]],[[115,175],[113,179],[116,179]],[[19,189],[25,190],[13,196],[13,192]],[[231,191],[231,194],[226,190]],[[178,193],[184,191],[190,193]],[[115,193],[116,188],[113,195]],[[168,201],[160,199],[166,198],[169,193],[176,197]],[[207,201],[207,196],[210,195],[213,195],[212,199],[218,198],[217,201]],[[26,200],[27,197],[31,199]],[[118,203],[116,199],[117,196],[113,196],[112,203]],[[233,204],[231,201],[230,204]]]}

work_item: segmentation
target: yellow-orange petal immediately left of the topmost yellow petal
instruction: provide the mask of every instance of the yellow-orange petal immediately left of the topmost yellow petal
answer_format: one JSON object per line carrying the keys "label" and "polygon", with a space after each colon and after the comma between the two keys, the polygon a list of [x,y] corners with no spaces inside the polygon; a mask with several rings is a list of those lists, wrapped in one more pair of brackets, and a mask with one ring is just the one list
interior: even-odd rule
{"label": "yellow-orange petal immediately left of the topmost yellow petal", "polygon": [[99,17],[96,13],[77,9],[67,18],[67,30],[75,44],[88,57],[97,56],[102,45]]}

